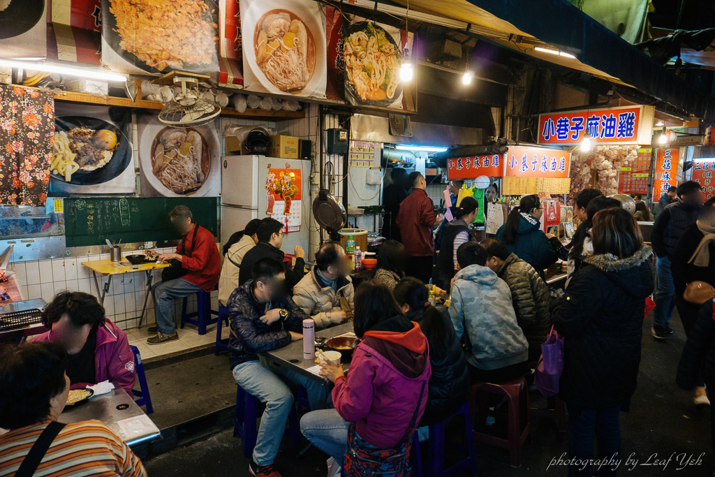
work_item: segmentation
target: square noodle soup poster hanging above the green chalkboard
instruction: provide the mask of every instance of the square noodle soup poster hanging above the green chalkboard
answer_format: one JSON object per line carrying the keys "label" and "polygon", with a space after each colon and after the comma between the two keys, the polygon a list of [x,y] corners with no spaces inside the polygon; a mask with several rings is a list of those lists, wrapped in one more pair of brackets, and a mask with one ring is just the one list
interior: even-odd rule
{"label": "square noodle soup poster hanging above the green chalkboard", "polygon": [[216,197],[221,192],[218,121],[173,127],[137,115],[142,197]]}

